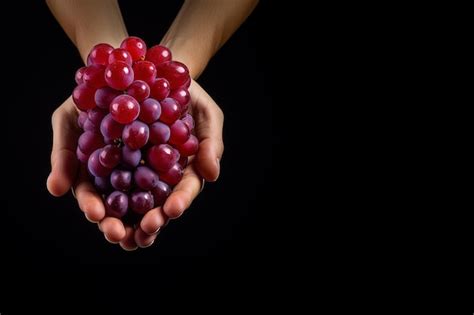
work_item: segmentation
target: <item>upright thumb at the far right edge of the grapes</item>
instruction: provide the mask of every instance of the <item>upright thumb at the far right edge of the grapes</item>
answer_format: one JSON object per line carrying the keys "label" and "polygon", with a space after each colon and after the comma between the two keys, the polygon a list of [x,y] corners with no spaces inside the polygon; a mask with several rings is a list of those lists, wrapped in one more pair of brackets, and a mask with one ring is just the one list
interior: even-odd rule
{"label": "upright thumb at the far right edge of the grapes", "polygon": [[224,114],[207,93],[197,101],[206,105],[196,106],[196,135],[199,139],[196,165],[199,174],[207,181],[213,182],[219,177],[220,159],[224,152]]}

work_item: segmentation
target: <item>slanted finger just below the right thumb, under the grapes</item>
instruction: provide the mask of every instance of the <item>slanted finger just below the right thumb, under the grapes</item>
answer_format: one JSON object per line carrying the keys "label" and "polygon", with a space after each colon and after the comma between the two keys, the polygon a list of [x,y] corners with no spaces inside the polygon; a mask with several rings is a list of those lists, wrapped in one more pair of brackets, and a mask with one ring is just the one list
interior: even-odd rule
{"label": "slanted finger just below the right thumb, under the grapes", "polygon": [[201,190],[202,181],[190,165],[184,170],[183,179],[174,188],[163,206],[164,213],[171,219],[181,216]]}

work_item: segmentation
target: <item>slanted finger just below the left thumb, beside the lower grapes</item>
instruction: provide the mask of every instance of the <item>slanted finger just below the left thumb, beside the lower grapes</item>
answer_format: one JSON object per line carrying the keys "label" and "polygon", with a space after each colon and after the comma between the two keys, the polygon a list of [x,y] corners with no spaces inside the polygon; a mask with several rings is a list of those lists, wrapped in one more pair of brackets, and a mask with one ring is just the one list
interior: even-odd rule
{"label": "slanted finger just below the left thumb, beside the lower grapes", "polygon": [[87,215],[87,218],[92,222],[99,222],[105,216],[104,203],[102,198],[97,194],[97,191],[92,186],[88,179],[85,167],[81,167],[79,171],[79,178],[74,189],[76,193],[79,208]]}

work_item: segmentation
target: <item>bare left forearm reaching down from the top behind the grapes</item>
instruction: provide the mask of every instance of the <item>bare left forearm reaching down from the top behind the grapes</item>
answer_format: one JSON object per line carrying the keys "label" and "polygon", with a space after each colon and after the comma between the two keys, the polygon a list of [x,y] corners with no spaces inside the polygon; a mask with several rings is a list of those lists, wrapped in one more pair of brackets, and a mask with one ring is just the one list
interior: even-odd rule
{"label": "bare left forearm reaching down from the top behind the grapes", "polygon": [[127,29],[116,0],[47,0],[51,12],[86,62],[98,43],[119,47]]}

